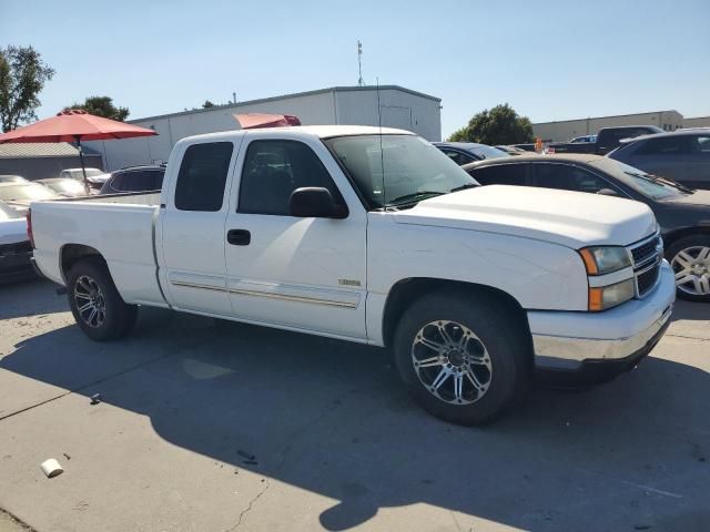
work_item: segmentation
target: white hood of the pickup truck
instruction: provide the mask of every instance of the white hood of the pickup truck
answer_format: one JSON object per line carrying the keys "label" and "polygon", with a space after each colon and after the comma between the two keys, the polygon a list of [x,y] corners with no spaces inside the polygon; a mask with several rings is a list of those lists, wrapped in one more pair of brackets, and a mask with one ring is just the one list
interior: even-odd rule
{"label": "white hood of the pickup truck", "polygon": [[575,249],[628,245],[657,227],[651,209],[631,200],[508,185],[436,196],[397,212],[395,222],[514,235]]}

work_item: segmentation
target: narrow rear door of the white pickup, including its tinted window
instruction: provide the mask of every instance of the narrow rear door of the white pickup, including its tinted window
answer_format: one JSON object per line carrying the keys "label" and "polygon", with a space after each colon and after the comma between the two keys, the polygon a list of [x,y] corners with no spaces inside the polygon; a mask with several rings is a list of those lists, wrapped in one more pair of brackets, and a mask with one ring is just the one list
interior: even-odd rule
{"label": "narrow rear door of the white pickup, including its tinted window", "polygon": [[[239,137],[241,141],[241,137]],[[161,208],[161,284],[181,309],[230,316],[224,265],[227,186],[237,141],[187,145]]]}

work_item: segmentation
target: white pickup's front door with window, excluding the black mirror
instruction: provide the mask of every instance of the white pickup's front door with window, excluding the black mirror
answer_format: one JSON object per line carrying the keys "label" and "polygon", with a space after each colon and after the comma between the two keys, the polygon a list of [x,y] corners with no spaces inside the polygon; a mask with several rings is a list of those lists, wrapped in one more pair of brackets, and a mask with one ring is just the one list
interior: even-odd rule
{"label": "white pickup's front door with window, excluding the black mirror", "polygon": [[[365,338],[365,208],[321,142],[247,142],[225,226],[234,316]],[[291,193],[305,186],[328,188],[348,216],[292,216]]]}

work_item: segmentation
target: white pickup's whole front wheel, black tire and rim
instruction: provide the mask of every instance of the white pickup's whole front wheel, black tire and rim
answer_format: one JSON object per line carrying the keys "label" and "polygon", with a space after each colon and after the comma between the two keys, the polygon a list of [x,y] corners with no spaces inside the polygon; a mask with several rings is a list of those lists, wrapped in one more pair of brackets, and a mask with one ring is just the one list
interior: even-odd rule
{"label": "white pickup's whole front wheel, black tire and rim", "polygon": [[[464,335],[464,349],[453,348]],[[440,291],[415,301],[397,325],[394,356],[414,399],[458,424],[493,421],[531,382],[532,357],[519,321],[495,298],[475,293]]]}

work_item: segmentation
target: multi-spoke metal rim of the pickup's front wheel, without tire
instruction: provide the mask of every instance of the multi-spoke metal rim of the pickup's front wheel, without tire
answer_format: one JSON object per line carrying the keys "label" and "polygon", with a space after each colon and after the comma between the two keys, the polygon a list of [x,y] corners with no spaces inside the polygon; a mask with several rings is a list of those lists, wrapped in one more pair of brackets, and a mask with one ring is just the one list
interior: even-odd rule
{"label": "multi-spoke metal rim of the pickup's front wheel, without tire", "polygon": [[493,378],[486,346],[456,321],[437,320],[422,327],[412,344],[412,362],[424,387],[453,405],[476,402]]}

